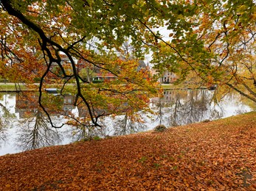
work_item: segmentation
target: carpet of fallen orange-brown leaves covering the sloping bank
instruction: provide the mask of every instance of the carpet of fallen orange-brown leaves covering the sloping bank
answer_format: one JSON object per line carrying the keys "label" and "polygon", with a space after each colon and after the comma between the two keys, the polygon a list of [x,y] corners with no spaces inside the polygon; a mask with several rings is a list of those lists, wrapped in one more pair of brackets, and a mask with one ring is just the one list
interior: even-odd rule
{"label": "carpet of fallen orange-brown leaves covering the sloping bank", "polygon": [[256,112],[7,154],[0,190],[256,190]]}

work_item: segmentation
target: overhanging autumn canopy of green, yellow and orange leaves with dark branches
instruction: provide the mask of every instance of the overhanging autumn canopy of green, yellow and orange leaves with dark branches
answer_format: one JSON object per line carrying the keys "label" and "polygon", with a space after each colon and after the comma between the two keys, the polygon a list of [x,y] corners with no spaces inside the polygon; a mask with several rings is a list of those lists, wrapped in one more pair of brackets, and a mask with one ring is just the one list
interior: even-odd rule
{"label": "overhanging autumn canopy of green, yellow and orange leaves with dark branches", "polygon": [[[138,70],[145,54],[179,82],[194,75],[256,102],[255,1],[1,0],[0,9],[1,75],[31,85],[39,79],[38,105],[48,117],[49,82],[86,109],[83,118],[69,116],[81,125],[146,109],[156,83]],[[114,80],[91,83],[83,68]]]}

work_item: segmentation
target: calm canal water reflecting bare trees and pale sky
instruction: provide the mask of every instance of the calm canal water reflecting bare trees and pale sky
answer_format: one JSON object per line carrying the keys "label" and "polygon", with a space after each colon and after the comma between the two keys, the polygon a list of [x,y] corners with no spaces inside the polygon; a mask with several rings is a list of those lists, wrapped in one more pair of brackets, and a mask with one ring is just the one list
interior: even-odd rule
{"label": "calm canal water reflecting bare trees and pale sky", "polygon": [[[152,113],[139,112],[141,122],[131,116],[107,117],[100,121],[102,128],[79,129],[63,126],[54,129],[44,113],[34,107],[25,93],[0,93],[0,155],[13,154],[49,145],[63,145],[91,136],[106,137],[148,131],[159,124],[181,126],[204,120],[215,120],[255,110],[255,104],[238,93],[219,95],[217,90],[165,90],[161,98],[152,98]],[[32,95],[33,96],[33,95]],[[30,95],[31,97],[31,95]],[[63,115],[67,111],[80,115],[72,105],[74,97],[63,98]],[[221,100],[221,101],[219,101]],[[63,123],[63,115],[52,116],[54,123]]]}

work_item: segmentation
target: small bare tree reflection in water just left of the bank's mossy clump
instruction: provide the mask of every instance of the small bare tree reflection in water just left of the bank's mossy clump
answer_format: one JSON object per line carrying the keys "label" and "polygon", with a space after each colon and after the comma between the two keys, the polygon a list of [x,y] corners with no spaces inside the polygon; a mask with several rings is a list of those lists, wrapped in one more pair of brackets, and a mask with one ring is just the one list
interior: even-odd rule
{"label": "small bare tree reflection in water just left of the bank's mossy clump", "polygon": [[146,129],[145,124],[139,121],[139,116],[125,113],[114,120],[114,135],[133,134]]}

